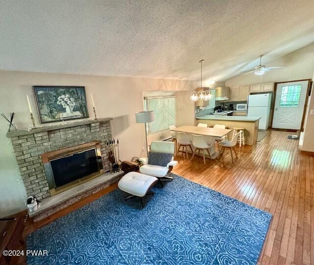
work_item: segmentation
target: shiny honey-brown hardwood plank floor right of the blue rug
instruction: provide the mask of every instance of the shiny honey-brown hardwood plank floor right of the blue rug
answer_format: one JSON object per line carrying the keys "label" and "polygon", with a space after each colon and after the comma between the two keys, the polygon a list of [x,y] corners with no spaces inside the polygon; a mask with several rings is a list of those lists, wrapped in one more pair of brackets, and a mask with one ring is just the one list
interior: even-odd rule
{"label": "shiny honey-brown hardwood plank floor right of the blue rug", "polygon": [[[314,156],[302,154],[291,132],[271,131],[255,146],[218,161],[176,157],[173,173],[273,215],[259,264],[314,264]],[[228,151],[228,150],[227,150]],[[191,158],[191,156],[189,156]]]}

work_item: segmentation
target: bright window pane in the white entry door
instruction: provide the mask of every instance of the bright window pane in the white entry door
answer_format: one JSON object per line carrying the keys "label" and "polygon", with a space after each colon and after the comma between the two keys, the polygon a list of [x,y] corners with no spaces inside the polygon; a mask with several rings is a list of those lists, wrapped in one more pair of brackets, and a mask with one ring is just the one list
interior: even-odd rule
{"label": "bright window pane in the white entry door", "polygon": [[280,107],[298,107],[302,85],[286,85],[282,87]]}

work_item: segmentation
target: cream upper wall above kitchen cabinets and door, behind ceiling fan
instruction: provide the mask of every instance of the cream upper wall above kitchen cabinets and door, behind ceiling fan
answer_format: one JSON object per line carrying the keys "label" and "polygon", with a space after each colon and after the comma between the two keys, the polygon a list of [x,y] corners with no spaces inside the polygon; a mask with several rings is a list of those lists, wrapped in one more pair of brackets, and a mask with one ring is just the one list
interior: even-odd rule
{"label": "cream upper wall above kitchen cabinets and door, behind ceiling fan", "polygon": [[227,80],[226,86],[311,79],[314,71],[314,43],[269,62],[266,66],[285,67],[266,72],[262,79],[254,73],[239,75]]}

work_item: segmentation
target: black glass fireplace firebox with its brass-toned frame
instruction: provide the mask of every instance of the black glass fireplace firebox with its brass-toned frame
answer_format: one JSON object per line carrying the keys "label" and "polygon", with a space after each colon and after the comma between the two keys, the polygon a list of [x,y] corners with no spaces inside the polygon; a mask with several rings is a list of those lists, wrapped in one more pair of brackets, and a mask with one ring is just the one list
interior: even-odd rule
{"label": "black glass fireplace firebox with its brass-toned frame", "polygon": [[51,195],[104,172],[100,142],[94,141],[42,154]]}

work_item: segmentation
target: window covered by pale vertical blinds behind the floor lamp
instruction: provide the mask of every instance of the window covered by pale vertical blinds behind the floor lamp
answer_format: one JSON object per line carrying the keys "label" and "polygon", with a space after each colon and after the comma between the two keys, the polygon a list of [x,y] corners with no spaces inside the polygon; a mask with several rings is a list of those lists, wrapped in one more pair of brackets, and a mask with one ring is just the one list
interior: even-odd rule
{"label": "window covered by pale vertical blinds behind the floor lamp", "polygon": [[145,97],[145,110],[154,110],[155,121],[146,124],[147,134],[154,134],[169,129],[176,124],[176,97]]}

